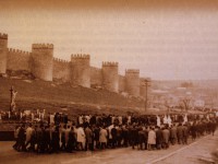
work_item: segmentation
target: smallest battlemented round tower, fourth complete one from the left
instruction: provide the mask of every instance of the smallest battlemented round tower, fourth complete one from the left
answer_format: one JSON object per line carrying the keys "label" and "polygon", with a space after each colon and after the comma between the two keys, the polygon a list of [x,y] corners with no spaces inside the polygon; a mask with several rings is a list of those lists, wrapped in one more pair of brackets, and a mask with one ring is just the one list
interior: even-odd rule
{"label": "smallest battlemented round tower, fourth complete one from the left", "polygon": [[125,70],[125,91],[134,96],[140,96],[140,70]]}

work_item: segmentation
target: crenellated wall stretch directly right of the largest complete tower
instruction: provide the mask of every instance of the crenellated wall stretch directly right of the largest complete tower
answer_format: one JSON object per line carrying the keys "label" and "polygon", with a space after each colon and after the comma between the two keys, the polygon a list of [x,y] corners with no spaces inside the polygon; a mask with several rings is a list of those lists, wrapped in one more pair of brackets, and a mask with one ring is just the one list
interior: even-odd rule
{"label": "crenellated wall stretch directly right of the largest complete tower", "polygon": [[71,80],[71,63],[65,60],[53,58],[53,79],[62,82],[70,82]]}

